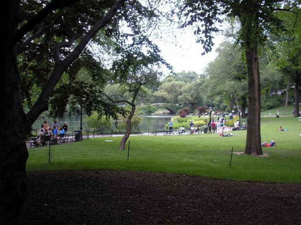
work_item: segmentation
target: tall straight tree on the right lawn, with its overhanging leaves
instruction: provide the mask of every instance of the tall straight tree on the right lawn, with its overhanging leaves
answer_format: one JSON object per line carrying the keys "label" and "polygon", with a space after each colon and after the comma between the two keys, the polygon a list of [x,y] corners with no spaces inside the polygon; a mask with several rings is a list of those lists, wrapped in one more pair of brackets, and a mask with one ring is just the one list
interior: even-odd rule
{"label": "tall straight tree on the right lawn, with its overhanging leaves", "polygon": [[[264,44],[269,32],[275,33],[283,28],[281,20],[274,12],[291,11],[299,7],[299,2],[297,0],[177,0],[176,2],[177,9],[171,11],[172,16],[177,12],[182,21],[181,28],[195,28],[194,34],[197,36],[197,42],[203,45],[203,54],[212,49],[213,33],[219,31],[218,23],[221,23],[225,17],[239,19],[241,28],[237,33],[237,43],[245,51],[249,92],[249,126],[245,153],[262,155],[258,47]],[[287,5],[289,7],[286,7]]]}

